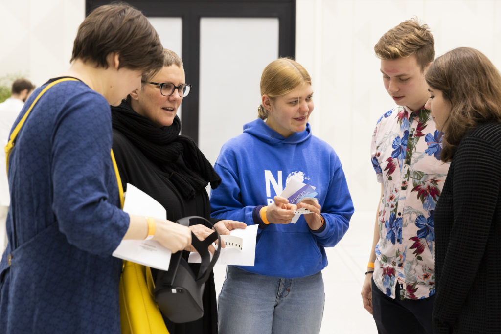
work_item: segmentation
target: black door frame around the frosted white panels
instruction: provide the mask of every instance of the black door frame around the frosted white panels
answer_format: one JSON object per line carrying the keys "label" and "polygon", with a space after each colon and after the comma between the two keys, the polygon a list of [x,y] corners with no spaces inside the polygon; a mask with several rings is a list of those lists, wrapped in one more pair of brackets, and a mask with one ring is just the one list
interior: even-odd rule
{"label": "black door frame around the frosted white panels", "polygon": [[[86,0],[85,14],[111,3]],[[278,18],[279,56],[294,57],[296,0],[129,0],[128,4],[147,17],[182,18],[182,58],[186,82],[199,87],[200,18]],[[168,46],[165,46],[168,48]],[[183,134],[198,143],[199,91],[183,101]]]}

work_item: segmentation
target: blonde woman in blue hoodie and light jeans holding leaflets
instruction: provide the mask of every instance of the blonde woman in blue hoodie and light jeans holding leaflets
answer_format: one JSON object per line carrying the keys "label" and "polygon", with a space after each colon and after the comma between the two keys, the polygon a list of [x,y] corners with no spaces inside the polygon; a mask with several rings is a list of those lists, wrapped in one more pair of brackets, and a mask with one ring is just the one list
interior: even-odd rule
{"label": "blonde woman in blue hoodie and light jeans holding leaflets", "polygon": [[[259,225],[255,265],[227,267],[219,333],[318,333],[324,247],[346,233],[353,203],[336,152],[312,135],[313,90],[303,66],[273,61],[261,95],[259,118],[223,145],[214,166],[222,182],[211,192],[212,216]],[[305,186],[281,197],[289,182]],[[305,193],[315,199],[297,201]]]}

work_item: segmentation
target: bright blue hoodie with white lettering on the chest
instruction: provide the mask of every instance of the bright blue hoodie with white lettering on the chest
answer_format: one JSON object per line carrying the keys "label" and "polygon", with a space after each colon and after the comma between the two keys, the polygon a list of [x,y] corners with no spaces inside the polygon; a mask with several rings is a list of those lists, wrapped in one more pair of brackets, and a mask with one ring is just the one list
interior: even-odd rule
{"label": "bright blue hoodie with white lettering on the chest", "polygon": [[[243,126],[227,141],[214,166],[222,182],[210,195],[212,216],[260,224],[253,273],[281,278],[313,275],[327,265],[324,247],[333,247],[346,233],[353,203],[341,162],[334,149],[305,131],[285,138],[262,119]],[[288,177],[301,175],[316,187],[325,224],[312,231],[303,216],[296,224],[262,223],[257,209],[273,203]]]}

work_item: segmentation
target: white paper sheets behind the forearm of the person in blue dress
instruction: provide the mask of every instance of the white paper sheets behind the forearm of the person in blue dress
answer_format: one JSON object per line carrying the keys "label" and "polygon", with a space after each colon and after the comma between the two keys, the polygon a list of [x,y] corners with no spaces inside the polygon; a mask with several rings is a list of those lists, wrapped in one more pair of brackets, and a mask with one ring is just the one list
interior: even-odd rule
{"label": "white paper sheets behind the forearm of the person in blue dress", "polygon": [[[139,216],[165,219],[163,206],[151,196],[127,183],[124,211]],[[113,256],[161,270],[169,269],[171,251],[154,240],[122,240]]]}

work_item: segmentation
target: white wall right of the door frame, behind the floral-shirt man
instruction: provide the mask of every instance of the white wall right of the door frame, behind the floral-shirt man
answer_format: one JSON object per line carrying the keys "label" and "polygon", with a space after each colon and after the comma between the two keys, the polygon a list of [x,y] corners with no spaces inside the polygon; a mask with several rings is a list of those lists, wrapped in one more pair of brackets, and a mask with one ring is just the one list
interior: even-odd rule
{"label": "white wall right of the door frame, behind the floral-shirt man", "polygon": [[[436,55],[473,47],[501,68],[501,2],[496,0],[297,0],[296,59],[314,82],[313,133],[341,158],[356,212],[375,213],[380,186],[369,159],[377,119],[394,103],[384,90],[373,47],[417,16]],[[372,225],[373,222],[368,222]]]}

